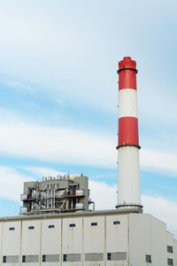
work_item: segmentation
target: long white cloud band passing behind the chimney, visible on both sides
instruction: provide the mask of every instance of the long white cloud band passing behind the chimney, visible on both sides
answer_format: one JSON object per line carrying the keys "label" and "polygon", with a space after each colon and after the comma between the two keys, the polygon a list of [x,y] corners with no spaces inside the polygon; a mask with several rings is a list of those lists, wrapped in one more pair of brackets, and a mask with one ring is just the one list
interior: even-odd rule
{"label": "long white cloud band passing behind the chimney, visible on both sides", "polygon": [[[116,137],[81,129],[51,127],[20,120],[0,110],[0,153],[12,157],[116,168]],[[177,173],[177,155],[158,150],[141,151],[141,168]]]}

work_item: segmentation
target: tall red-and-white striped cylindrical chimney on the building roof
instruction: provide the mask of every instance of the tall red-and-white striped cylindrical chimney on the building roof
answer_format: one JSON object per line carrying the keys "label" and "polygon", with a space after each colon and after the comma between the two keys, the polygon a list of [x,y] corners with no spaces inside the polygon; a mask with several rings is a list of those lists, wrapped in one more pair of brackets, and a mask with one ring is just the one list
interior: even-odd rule
{"label": "tall red-and-white striped cylindrical chimney on the building roof", "polygon": [[142,209],[136,92],[136,62],[119,61],[118,206]]}

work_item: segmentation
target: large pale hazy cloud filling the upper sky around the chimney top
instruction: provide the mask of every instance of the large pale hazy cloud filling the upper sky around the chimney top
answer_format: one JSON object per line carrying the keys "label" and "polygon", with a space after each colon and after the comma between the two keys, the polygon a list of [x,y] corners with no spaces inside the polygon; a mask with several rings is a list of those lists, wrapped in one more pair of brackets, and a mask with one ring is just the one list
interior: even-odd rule
{"label": "large pale hazy cloud filling the upper sky around the chimney top", "polygon": [[[65,97],[87,102],[88,106],[94,104],[99,108],[113,110],[112,106],[116,106],[117,99],[117,90],[114,90],[118,81],[117,61],[125,54],[132,54],[139,59],[138,68],[142,69],[138,76],[139,80],[143,80],[140,88],[142,112],[148,113],[148,116],[154,117],[155,120],[157,117],[162,117],[163,120],[173,119],[176,113],[173,97],[175,75],[174,79],[170,78],[170,81],[174,80],[174,85],[168,85],[166,90],[166,76],[173,72],[166,72],[166,75],[161,73],[165,73],[165,66],[175,69],[174,53],[170,52],[175,51],[176,42],[168,40],[172,40],[170,37],[173,37],[175,30],[176,9],[169,4],[170,12],[166,12],[163,7],[162,12],[158,14],[158,4],[147,4],[146,10],[152,15],[150,21],[149,12],[144,12],[141,1],[134,3],[135,24],[139,25],[137,30],[130,23],[131,8],[124,27],[121,27],[121,21],[124,20],[122,11],[127,10],[127,4],[124,2],[120,4],[114,1],[112,4],[106,4],[104,1],[102,12],[100,4],[95,3],[93,12],[92,4],[86,4],[85,1],[79,5],[70,1],[72,8],[68,8],[66,3],[58,4],[58,1],[52,4],[45,2],[42,9],[35,2],[28,2],[24,6],[22,1],[19,1],[18,6],[11,4],[12,9],[9,9],[9,1],[5,1],[0,9],[1,73],[19,77],[19,80],[25,77],[26,80],[37,83],[38,87],[45,88],[42,90],[48,90],[54,95],[65,93]],[[128,3],[128,6],[132,4]],[[106,22],[104,17],[108,18]],[[164,27],[159,25],[168,27],[167,33],[172,35],[162,38],[160,32]],[[141,39],[140,48],[139,39],[144,30],[147,35]],[[115,34],[117,32],[119,35]],[[125,35],[125,32],[128,34]],[[133,40],[131,45],[129,39]],[[151,45],[151,39],[159,44],[158,52],[154,45]],[[167,52],[166,47],[169,47],[169,44],[173,49]],[[168,55],[172,62],[164,59]],[[152,62],[158,63],[156,71],[151,67]],[[148,79],[151,74],[157,75],[158,69],[163,72],[158,73],[156,81],[153,78]],[[150,80],[148,84],[147,80]]]}

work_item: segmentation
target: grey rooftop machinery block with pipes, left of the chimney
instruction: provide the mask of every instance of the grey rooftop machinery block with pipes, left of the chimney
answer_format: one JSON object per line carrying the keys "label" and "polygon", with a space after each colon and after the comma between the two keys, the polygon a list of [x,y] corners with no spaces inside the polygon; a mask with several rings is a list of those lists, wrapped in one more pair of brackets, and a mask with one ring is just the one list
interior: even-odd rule
{"label": "grey rooftop machinery block with pipes, left of the chimney", "polygon": [[43,177],[42,182],[25,182],[21,195],[23,207],[20,215],[39,215],[47,213],[65,213],[88,211],[88,177],[65,175]]}

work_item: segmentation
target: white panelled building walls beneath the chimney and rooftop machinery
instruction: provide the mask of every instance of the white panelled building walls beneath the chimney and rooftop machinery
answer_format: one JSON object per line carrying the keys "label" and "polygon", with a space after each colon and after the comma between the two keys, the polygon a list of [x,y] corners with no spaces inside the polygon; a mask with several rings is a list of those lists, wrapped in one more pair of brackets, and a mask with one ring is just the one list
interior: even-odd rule
{"label": "white panelled building walls beneath the chimney and rooftop machinery", "polygon": [[166,266],[167,258],[176,263],[176,250],[165,223],[151,215],[90,213],[0,223],[1,266]]}

